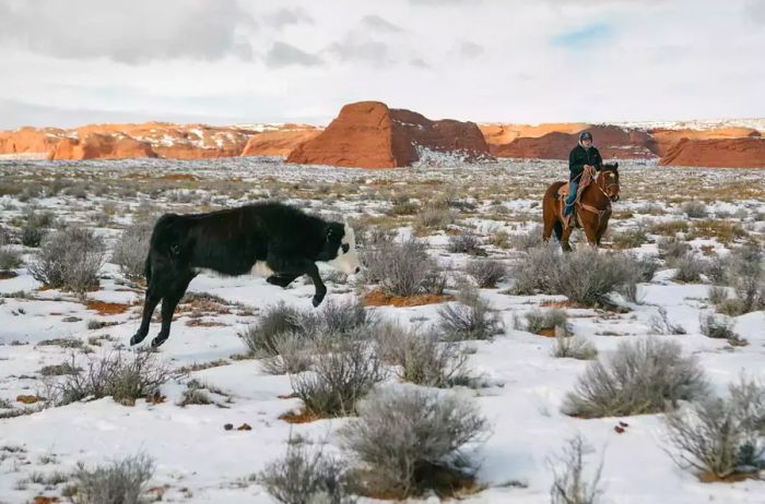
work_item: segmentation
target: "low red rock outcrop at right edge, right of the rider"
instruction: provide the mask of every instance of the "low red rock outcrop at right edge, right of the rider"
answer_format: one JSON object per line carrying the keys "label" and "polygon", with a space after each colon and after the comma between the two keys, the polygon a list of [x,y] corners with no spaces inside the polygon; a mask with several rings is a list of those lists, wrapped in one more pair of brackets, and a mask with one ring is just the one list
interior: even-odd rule
{"label": "low red rock outcrop at right edge, right of the rider", "polygon": [[666,166],[765,168],[765,139],[683,139],[659,161]]}

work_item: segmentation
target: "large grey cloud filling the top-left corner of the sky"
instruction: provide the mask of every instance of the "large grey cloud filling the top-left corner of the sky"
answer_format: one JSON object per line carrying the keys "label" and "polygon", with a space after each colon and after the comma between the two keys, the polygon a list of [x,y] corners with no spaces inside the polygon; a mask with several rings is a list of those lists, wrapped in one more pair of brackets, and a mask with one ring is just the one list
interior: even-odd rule
{"label": "large grey cloud filling the top-left corner of the sky", "polygon": [[251,56],[255,20],[236,0],[24,0],[0,3],[0,43],[62,59],[217,60]]}

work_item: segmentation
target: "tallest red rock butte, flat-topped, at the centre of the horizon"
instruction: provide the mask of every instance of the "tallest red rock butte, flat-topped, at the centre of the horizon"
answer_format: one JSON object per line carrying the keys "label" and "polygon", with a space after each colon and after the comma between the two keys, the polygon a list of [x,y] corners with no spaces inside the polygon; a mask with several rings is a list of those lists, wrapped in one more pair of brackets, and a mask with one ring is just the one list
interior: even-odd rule
{"label": "tallest red rock butte, flat-topped, at the centre of the horizon", "polygon": [[420,148],[463,155],[466,160],[490,156],[472,122],[431,121],[379,101],[360,101],[345,105],[323,132],[298,145],[287,163],[393,168],[419,160]]}

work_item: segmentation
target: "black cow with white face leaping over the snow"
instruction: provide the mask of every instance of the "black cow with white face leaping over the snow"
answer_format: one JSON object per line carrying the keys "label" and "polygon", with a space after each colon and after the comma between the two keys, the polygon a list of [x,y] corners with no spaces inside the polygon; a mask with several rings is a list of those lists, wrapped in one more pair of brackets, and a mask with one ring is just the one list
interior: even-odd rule
{"label": "black cow with white face leaping over the snow", "polygon": [[358,273],[353,229],[327,221],[280,203],[256,203],[208,214],[165,214],[154,225],[146,257],[146,297],[143,319],[130,339],[137,345],[149,334],[154,309],[162,300],[162,328],[152,340],[168,338],[175,308],[202,269],[238,276],[268,276],[269,284],[286,287],[301,275],[314,280],[314,307],[327,293],[317,262]]}

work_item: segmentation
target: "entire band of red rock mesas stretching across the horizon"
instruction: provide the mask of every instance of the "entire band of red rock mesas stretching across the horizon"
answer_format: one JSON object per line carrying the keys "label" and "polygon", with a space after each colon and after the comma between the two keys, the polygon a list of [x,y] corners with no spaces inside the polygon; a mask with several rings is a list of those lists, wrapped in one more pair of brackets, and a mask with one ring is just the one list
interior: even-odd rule
{"label": "entire band of red rock mesas stretching across the horizon", "polygon": [[395,168],[496,157],[567,159],[589,130],[605,159],[660,166],[765,167],[765,120],[589,124],[427,119],[380,101],[345,105],[325,129],[309,124],[89,124],[0,131],[0,159],[204,159],[280,156],[294,164]]}

